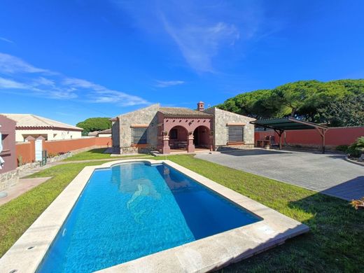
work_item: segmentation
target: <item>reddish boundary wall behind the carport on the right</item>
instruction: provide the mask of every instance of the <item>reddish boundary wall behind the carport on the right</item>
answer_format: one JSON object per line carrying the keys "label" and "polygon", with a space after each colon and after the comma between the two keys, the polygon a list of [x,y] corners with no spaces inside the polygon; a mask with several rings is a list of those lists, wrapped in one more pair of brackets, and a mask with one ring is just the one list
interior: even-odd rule
{"label": "reddish boundary wall behind the carport on the right", "polygon": [[[255,141],[273,135],[276,143],[279,137],[273,131],[255,132]],[[358,137],[364,136],[364,127],[333,127],[325,134],[325,145],[338,146],[350,145]],[[282,139],[283,142],[283,139]],[[316,130],[292,130],[286,131],[287,144],[321,145],[321,136]]]}

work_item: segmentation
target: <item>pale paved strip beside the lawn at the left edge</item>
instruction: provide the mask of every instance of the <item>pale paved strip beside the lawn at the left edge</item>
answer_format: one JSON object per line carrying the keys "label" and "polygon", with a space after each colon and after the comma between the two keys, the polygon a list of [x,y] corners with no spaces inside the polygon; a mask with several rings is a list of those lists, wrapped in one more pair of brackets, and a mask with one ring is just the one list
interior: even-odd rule
{"label": "pale paved strip beside the lawn at the left edge", "polygon": [[6,193],[8,194],[6,197],[0,198],[0,206],[22,195],[23,193],[27,193],[28,190],[35,188],[51,178],[52,177],[37,177],[34,179],[20,179],[18,184],[6,190]]}

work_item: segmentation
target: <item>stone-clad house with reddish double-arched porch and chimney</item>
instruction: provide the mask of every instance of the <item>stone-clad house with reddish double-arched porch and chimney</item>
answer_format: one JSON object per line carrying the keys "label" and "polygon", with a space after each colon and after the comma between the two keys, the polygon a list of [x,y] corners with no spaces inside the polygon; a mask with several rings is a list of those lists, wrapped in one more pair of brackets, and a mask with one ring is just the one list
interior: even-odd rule
{"label": "stone-clad house with reddish double-arched porch and chimney", "polygon": [[153,104],[144,109],[112,118],[114,153],[160,151],[195,152],[224,148],[253,148],[253,118],[216,107],[197,110],[162,107]]}

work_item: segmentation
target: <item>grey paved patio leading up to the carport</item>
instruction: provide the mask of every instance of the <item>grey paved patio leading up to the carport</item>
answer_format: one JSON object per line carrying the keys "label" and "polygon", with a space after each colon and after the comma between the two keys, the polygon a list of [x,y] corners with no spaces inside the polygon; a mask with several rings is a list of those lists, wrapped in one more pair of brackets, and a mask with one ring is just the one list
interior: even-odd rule
{"label": "grey paved patio leading up to the carport", "polygon": [[196,158],[344,200],[364,196],[364,167],[347,162],[341,154],[253,149],[197,154]]}

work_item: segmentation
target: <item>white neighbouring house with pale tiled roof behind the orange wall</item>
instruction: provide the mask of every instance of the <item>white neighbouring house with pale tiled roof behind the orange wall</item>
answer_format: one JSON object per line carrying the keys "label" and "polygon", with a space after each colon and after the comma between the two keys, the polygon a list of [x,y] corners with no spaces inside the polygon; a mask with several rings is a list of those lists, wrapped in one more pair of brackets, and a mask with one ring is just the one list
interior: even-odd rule
{"label": "white neighbouring house with pale tiled roof behind the orange wall", "polygon": [[83,131],[82,128],[32,114],[2,113],[0,115],[15,121],[15,141],[17,142],[23,142],[29,136],[34,139],[43,137],[45,140],[79,139]]}

